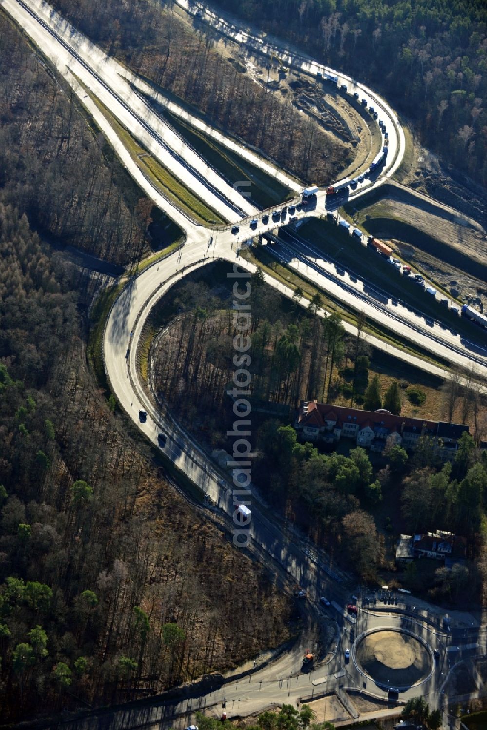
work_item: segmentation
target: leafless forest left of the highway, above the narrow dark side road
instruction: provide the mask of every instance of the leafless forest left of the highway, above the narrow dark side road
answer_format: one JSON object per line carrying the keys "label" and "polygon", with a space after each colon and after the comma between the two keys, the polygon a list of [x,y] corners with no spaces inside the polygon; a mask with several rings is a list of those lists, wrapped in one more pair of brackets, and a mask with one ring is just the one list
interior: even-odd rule
{"label": "leafless forest left of the highway, above the narrow dark side road", "polygon": [[130,179],[118,164],[104,163],[103,135],[91,134],[73,97],[53,81],[4,15],[0,74],[4,202],[63,246],[117,264],[137,257],[145,241]]}

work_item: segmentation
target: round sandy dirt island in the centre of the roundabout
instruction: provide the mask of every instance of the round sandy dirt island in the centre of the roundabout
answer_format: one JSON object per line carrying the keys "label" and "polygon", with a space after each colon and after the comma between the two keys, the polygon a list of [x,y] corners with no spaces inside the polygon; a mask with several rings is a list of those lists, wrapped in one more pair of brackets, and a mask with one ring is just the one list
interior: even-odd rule
{"label": "round sandy dirt island in the centre of the roundabout", "polygon": [[356,649],[356,659],[373,680],[398,687],[415,684],[431,666],[429,652],[421,642],[399,631],[368,634]]}

